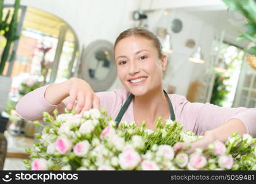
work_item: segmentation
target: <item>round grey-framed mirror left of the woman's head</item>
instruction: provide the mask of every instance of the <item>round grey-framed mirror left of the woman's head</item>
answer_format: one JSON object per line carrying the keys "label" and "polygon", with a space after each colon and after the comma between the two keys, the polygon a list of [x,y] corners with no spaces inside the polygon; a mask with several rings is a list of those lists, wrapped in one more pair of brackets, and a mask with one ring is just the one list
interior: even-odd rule
{"label": "round grey-framed mirror left of the woman's head", "polygon": [[95,92],[106,91],[116,80],[113,44],[96,40],[84,49],[78,77],[86,80]]}

